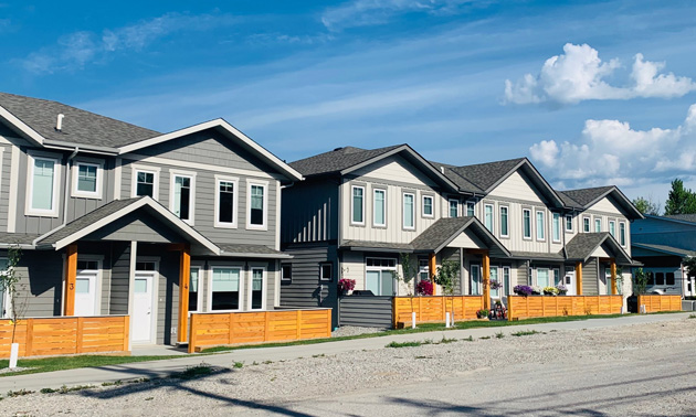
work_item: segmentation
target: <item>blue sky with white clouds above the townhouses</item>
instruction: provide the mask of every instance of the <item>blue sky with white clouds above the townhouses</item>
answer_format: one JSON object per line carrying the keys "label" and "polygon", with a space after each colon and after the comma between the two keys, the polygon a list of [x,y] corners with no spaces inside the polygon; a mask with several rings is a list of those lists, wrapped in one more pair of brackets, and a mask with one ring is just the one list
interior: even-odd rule
{"label": "blue sky with white clouds above the townhouses", "polygon": [[561,189],[696,188],[689,1],[95,4],[0,0],[0,89],[160,131],[223,117],[288,161],[408,142]]}

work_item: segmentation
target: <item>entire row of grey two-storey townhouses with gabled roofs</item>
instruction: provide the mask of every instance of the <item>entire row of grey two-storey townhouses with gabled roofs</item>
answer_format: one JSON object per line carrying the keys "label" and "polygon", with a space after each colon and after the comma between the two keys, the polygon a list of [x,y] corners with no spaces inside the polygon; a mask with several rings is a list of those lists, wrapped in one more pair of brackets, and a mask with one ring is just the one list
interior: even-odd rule
{"label": "entire row of grey two-storey townhouses with gabled roofs", "polygon": [[518,284],[611,293],[641,217],[525,158],[455,167],[398,145],[288,164],[222,119],[160,133],[0,93],[0,264],[21,248],[25,316],[127,314],[131,343],[186,342],[191,312],[330,307],[336,324],[340,278],[408,292],[400,254],[419,279],[456,260],[457,293],[489,277],[503,302]]}

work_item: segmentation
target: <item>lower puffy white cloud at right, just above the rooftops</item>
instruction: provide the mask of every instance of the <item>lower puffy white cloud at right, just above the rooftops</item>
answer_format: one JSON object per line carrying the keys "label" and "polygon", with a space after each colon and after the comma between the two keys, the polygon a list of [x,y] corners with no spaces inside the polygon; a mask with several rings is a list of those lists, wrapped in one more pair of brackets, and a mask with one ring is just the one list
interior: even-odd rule
{"label": "lower puffy white cloud at right, just above the rooftops", "polygon": [[542,140],[531,160],[565,186],[640,184],[696,171],[696,104],[674,129],[632,129],[619,120],[587,120],[577,143]]}

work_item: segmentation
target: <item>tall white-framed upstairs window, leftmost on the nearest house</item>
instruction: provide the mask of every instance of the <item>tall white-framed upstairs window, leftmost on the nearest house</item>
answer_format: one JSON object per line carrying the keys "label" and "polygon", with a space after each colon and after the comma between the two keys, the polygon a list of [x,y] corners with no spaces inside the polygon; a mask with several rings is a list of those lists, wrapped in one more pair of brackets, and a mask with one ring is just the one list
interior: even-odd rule
{"label": "tall white-framed upstairs window, leftmost on the nearest house", "polygon": [[29,156],[29,169],[31,183],[27,214],[57,216],[59,160]]}

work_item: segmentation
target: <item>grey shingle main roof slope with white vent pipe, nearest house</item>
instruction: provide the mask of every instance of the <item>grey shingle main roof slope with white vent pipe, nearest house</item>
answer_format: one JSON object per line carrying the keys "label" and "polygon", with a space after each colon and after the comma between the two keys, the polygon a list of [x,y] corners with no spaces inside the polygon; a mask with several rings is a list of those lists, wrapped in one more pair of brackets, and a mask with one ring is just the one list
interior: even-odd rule
{"label": "grey shingle main roof slope with white vent pipe, nearest house", "polygon": [[[155,130],[41,98],[0,93],[0,106],[45,139],[63,142],[118,148],[160,135]],[[62,131],[55,130],[59,114],[65,115]]]}

